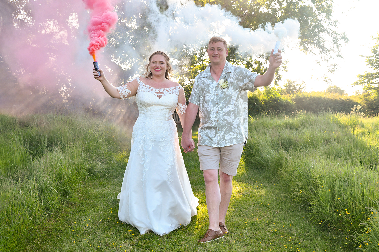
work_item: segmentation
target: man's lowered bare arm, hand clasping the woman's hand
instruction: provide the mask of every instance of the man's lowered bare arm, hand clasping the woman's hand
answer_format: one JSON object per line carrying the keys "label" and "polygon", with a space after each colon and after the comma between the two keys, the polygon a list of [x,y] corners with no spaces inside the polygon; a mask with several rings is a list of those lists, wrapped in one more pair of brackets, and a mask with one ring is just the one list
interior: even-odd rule
{"label": "man's lowered bare arm, hand clasping the woman's hand", "polygon": [[185,153],[193,152],[193,148],[195,147],[195,142],[192,140],[192,138],[189,138],[189,136],[191,133],[192,125],[196,119],[197,111],[199,111],[199,106],[193,104],[192,102],[189,102],[186,109],[185,121],[182,124],[183,133],[181,144]]}

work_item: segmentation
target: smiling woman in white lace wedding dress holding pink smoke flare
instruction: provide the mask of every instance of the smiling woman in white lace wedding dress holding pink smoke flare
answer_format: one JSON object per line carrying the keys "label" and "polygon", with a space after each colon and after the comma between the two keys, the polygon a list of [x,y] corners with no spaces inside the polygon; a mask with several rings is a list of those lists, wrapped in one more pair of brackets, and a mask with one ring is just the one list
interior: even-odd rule
{"label": "smiling woman in white lace wedding dress holding pink smoke flare", "polygon": [[172,68],[163,52],[150,56],[146,70],[144,78],[117,88],[102,70],[100,77],[96,70],[93,73],[111,97],[136,96],[139,110],[121,193],[117,196],[119,219],[135,226],[141,234],[152,230],[164,235],[191,221],[191,216],[197,214],[199,199],[193,195],[171,116],[176,109],[180,121],[185,120],[183,87],[169,80]]}

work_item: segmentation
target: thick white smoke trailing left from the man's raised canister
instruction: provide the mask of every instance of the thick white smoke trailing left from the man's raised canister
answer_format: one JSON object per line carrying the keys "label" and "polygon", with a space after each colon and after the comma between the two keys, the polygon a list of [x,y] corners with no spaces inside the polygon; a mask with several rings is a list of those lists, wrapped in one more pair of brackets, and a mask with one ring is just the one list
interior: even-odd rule
{"label": "thick white smoke trailing left from the man's raised canister", "polygon": [[277,23],[274,30],[268,24],[264,28],[251,31],[240,26],[237,17],[218,5],[206,4],[198,7],[189,0],[169,0],[168,6],[164,13],[160,13],[153,6],[149,15],[158,34],[154,49],[162,47],[170,51],[177,45],[196,47],[206,44],[213,36],[219,36],[231,45],[239,45],[240,51],[259,55],[271,51],[276,40],[287,37],[295,40],[299,36],[297,20],[288,19]]}

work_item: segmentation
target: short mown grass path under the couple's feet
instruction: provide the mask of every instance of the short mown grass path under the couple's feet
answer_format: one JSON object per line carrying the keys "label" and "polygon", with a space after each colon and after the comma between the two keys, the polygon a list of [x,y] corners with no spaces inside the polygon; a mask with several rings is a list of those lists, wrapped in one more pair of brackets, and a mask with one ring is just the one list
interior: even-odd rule
{"label": "short mown grass path under the couple's feet", "polygon": [[[196,131],[194,127],[195,142]],[[136,228],[119,221],[116,196],[128,158],[128,153],[121,153],[107,176],[83,181],[70,203],[38,227],[25,251],[353,251],[344,237],[311,224],[307,213],[283,196],[276,174],[249,169],[243,159],[233,178],[226,216],[229,233],[224,239],[197,244],[208,229],[205,186],[197,153],[183,157],[200,203],[188,226],[164,236],[140,235]]]}

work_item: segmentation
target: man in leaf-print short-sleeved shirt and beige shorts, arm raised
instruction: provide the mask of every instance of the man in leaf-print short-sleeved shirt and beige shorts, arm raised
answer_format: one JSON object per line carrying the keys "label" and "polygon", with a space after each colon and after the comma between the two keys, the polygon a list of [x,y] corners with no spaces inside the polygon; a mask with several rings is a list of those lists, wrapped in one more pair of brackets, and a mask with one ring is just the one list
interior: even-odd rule
{"label": "man in leaf-print short-sleeved shirt and beige shorts, arm raised", "polygon": [[273,51],[266,73],[256,74],[226,61],[228,49],[224,39],[209,40],[210,64],[195,78],[181,143],[185,153],[193,151],[194,141],[189,135],[200,109],[197,153],[204,174],[209,229],[199,243],[223,238],[228,232],[225,216],[232,196],[232,179],[247,139],[247,90],[254,92],[257,87],[271,84],[282,63],[280,50],[275,55]]}

